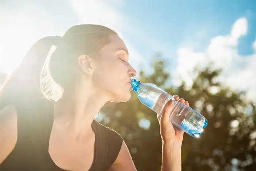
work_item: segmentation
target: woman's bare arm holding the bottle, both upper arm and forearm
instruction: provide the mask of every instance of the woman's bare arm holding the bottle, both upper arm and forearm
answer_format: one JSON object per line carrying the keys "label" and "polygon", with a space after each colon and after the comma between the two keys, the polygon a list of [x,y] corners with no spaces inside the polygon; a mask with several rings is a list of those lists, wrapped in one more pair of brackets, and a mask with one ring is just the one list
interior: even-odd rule
{"label": "woman's bare arm holding the bottle, both upper arm and forearm", "polygon": [[[174,96],[175,100],[185,103],[189,106],[188,101],[183,98],[179,99]],[[160,124],[160,133],[162,137],[162,171],[181,171],[181,145],[184,131],[172,125],[169,120],[169,114],[173,108],[174,102],[168,101],[163,109],[162,115],[158,116]],[[146,163],[145,163],[146,164]],[[136,171],[131,154],[124,143],[116,161],[108,171]]]}

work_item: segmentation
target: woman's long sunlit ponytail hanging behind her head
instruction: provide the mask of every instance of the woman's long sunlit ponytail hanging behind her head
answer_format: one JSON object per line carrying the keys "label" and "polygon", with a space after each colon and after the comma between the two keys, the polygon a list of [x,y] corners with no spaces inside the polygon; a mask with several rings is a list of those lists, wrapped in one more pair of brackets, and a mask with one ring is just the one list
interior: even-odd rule
{"label": "woman's long sunlit ponytail hanging behind her head", "polygon": [[39,39],[30,48],[0,89],[0,110],[27,98],[44,98],[40,88],[41,70],[50,48],[57,46],[59,41],[60,36],[48,36]]}

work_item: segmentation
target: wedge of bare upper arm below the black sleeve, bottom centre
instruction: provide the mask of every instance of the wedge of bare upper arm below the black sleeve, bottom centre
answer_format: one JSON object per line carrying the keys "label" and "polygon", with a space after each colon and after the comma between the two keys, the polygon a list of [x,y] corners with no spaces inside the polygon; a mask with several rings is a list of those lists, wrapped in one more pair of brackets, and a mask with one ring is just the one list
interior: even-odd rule
{"label": "wedge of bare upper arm below the black sleeve, bottom centre", "polygon": [[116,161],[112,164],[108,171],[136,171],[132,156],[125,142],[123,141],[120,152]]}

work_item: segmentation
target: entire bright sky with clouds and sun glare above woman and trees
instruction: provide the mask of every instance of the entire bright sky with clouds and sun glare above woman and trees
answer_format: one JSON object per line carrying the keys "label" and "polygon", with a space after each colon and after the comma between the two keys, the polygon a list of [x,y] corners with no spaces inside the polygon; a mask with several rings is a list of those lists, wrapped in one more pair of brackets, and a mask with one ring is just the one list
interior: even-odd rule
{"label": "entire bright sky with clouds and sun glare above woman and trees", "polygon": [[219,80],[256,99],[256,2],[253,0],[0,0],[0,70],[7,74],[39,38],[76,24],[121,34],[136,69],[163,53],[173,75],[191,87],[195,66],[223,68]]}

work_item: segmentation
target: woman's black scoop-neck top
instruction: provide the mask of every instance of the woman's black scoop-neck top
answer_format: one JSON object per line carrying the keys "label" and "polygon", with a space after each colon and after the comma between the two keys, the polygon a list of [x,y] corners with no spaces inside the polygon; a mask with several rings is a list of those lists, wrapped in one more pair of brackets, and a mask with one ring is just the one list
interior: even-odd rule
{"label": "woman's black scoop-neck top", "polygon": [[[42,108],[43,106],[43,108]],[[51,159],[48,147],[53,126],[53,104],[45,100],[20,102],[18,140],[14,150],[1,163],[0,171],[65,171]],[[116,160],[123,139],[114,130],[93,120],[94,159],[89,171],[107,170]]]}

